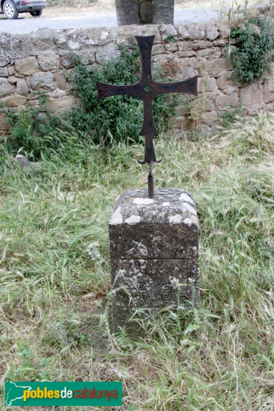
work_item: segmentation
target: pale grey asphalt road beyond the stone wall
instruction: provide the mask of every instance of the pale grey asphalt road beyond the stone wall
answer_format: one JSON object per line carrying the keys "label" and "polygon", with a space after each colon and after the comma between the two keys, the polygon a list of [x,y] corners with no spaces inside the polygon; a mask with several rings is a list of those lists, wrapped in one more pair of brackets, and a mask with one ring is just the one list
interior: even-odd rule
{"label": "pale grey asphalt road beyond the stone wall", "polygon": [[[185,9],[174,11],[174,24],[179,25],[186,22],[202,23],[217,18],[217,12],[210,9]],[[27,34],[41,28],[50,29],[74,29],[90,27],[115,27],[117,26],[116,14],[87,16],[81,12],[75,15],[64,15],[56,17],[41,16],[39,18],[29,17],[28,13],[19,14],[17,20],[7,20],[4,14],[0,14],[0,32],[12,34]]]}

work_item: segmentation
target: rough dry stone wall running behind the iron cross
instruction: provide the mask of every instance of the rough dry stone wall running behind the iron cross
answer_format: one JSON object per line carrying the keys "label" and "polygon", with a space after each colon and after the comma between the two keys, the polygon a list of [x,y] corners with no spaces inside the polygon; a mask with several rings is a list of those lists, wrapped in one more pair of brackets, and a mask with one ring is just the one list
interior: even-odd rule
{"label": "rough dry stone wall running behind the iron cross", "polygon": [[[274,67],[262,80],[241,87],[231,76],[224,46],[230,29],[221,23],[123,26],[50,30],[26,35],[0,34],[0,105],[21,110],[39,106],[39,91],[49,97],[56,113],[75,106],[68,82],[73,74],[69,50],[82,56],[88,66],[100,66],[102,59],[119,57],[118,44],[130,44],[133,35],[155,34],[153,66],[163,76],[184,80],[198,74],[198,98],[178,107],[174,127],[189,129],[197,124],[205,130],[216,124],[224,107],[243,105],[242,114],[274,108]],[[5,114],[0,114],[0,135],[8,132]]]}

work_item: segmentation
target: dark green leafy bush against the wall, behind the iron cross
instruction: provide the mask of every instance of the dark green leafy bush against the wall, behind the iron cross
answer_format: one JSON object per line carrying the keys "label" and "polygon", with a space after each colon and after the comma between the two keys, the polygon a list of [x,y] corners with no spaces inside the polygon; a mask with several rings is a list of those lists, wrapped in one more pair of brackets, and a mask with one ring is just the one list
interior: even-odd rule
{"label": "dark green leafy bush against the wall, behind the iron cross", "polygon": [[[135,47],[135,46],[132,46]],[[120,59],[102,62],[101,69],[88,68],[79,57],[74,60],[75,76],[72,92],[80,104],[67,111],[66,121],[85,132],[95,142],[106,144],[115,140],[140,141],[143,106],[140,99],[130,96],[115,96],[98,102],[96,81],[110,84],[134,84],[140,80],[140,54],[137,48],[129,51],[120,46]],[[157,81],[159,73],[154,74]],[[175,115],[177,98],[157,96],[153,102],[153,113],[159,131],[166,129],[169,119]]]}

